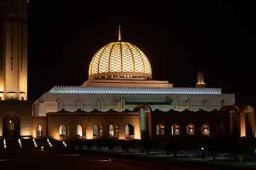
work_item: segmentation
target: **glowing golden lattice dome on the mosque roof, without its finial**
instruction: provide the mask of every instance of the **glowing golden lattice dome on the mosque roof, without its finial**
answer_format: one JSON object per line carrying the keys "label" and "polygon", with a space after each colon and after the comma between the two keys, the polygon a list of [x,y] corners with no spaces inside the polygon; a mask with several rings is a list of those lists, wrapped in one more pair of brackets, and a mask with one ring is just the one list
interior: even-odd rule
{"label": "glowing golden lattice dome on the mosque roof, without its finial", "polygon": [[111,42],[92,58],[89,79],[143,77],[151,79],[151,66],[146,55],[129,42]]}

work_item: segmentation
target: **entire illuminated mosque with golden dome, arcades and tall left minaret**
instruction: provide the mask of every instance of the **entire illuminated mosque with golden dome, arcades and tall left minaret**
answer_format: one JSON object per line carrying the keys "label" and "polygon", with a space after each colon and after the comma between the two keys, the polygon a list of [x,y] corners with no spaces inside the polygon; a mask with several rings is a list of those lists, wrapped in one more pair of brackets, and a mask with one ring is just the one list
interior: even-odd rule
{"label": "entire illuminated mosque with golden dome, arcades and tall left minaret", "polygon": [[[92,57],[80,86],[53,86],[27,100],[28,0],[0,0],[0,137],[171,139],[255,137],[255,108],[235,106],[235,94],[152,77],[139,47],[121,39]],[[154,68],[153,68],[154,69]]]}

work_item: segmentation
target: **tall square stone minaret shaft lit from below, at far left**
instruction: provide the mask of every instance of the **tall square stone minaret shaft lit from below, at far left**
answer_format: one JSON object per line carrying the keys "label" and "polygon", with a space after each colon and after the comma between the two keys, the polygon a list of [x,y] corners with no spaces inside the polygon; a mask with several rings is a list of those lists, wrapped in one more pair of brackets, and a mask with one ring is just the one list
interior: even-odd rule
{"label": "tall square stone minaret shaft lit from below, at far left", "polygon": [[28,0],[0,0],[0,100],[26,101]]}

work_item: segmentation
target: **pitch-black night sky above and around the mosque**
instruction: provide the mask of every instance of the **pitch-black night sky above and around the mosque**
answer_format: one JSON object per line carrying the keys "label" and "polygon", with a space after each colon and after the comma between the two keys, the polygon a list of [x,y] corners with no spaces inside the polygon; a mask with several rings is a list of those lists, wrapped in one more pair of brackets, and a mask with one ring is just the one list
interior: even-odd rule
{"label": "pitch-black night sky above and around the mosque", "polygon": [[[122,3],[126,4],[122,4]],[[202,69],[208,87],[256,103],[255,8],[249,1],[30,0],[28,98],[53,86],[80,86],[93,55],[122,40],[149,58],[153,79],[193,87]]]}

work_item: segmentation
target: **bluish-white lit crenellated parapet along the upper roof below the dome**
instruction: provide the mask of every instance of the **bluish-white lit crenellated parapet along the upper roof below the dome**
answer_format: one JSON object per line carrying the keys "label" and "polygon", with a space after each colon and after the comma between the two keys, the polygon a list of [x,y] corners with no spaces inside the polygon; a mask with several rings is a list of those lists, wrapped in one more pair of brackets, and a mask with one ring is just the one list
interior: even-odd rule
{"label": "bluish-white lit crenellated parapet along the upper roof below the dome", "polygon": [[48,94],[222,94],[221,88],[54,86]]}

